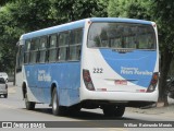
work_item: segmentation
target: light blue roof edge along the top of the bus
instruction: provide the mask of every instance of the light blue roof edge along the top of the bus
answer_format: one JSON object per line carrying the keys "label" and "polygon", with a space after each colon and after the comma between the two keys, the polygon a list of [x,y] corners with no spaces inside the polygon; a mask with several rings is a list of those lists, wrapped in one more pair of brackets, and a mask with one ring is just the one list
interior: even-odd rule
{"label": "light blue roof edge along the top of the bus", "polygon": [[35,32],[30,32],[27,34],[23,34],[20,39],[29,39],[34,37],[45,36],[49,34],[54,34],[58,32],[65,32],[69,29],[79,28],[85,26],[86,21],[91,22],[123,22],[123,23],[136,23],[136,24],[152,24],[150,21],[144,21],[144,20],[135,20],[135,19],[123,19],[123,17],[91,17],[91,19],[84,19],[62,25],[57,25]]}

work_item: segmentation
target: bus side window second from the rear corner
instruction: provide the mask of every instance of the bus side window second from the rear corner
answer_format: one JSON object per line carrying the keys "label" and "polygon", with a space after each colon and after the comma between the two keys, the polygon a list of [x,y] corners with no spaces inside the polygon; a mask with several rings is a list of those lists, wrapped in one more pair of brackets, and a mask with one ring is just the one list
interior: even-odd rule
{"label": "bus side window second from the rear corner", "polygon": [[63,32],[59,35],[59,61],[67,60],[70,33]]}

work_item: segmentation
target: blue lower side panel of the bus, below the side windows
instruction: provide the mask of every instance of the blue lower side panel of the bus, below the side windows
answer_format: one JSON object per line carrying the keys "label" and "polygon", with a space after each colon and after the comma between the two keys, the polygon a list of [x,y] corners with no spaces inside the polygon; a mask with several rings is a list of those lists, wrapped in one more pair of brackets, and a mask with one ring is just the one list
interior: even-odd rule
{"label": "blue lower side panel of the bus, below the side windows", "polygon": [[50,104],[54,83],[61,106],[79,103],[79,62],[26,66],[28,88],[39,103]]}

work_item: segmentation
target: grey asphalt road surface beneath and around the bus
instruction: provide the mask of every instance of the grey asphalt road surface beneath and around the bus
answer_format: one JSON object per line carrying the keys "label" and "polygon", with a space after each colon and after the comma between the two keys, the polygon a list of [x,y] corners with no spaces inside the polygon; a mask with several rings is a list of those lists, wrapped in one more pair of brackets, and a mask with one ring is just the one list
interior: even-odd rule
{"label": "grey asphalt road surface beneath and around the bus", "polygon": [[[75,121],[73,123],[75,127],[78,127],[79,124],[79,127],[84,126],[88,128],[95,128],[100,131],[101,129],[103,130],[103,128],[107,131],[111,131],[110,129],[112,128],[115,130],[113,124],[119,122],[129,123],[135,121],[174,121],[174,117],[161,116],[159,114],[136,114],[126,110],[123,118],[107,118],[103,116],[101,109],[82,109],[82,111],[76,116],[53,116],[51,108],[48,105],[42,104],[36,105],[35,110],[26,110],[24,100],[22,99],[22,95],[20,94],[18,90],[15,86],[12,86],[12,83],[9,83],[9,97],[0,97],[0,121],[67,121],[64,123],[58,123],[62,124],[63,128],[71,128],[72,122]],[[121,128],[120,130],[129,131],[132,129],[133,128]]]}

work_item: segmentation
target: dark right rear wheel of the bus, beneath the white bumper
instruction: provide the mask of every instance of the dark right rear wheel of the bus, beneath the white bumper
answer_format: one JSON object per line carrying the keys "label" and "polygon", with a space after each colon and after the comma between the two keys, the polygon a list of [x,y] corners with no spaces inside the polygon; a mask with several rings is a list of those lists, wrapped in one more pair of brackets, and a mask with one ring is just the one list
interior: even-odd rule
{"label": "dark right rear wheel of the bus, beneath the white bumper", "polygon": [[102,108],[104,116],[107,117],[122,117],[125,111],[124,106],[104,106]]}

